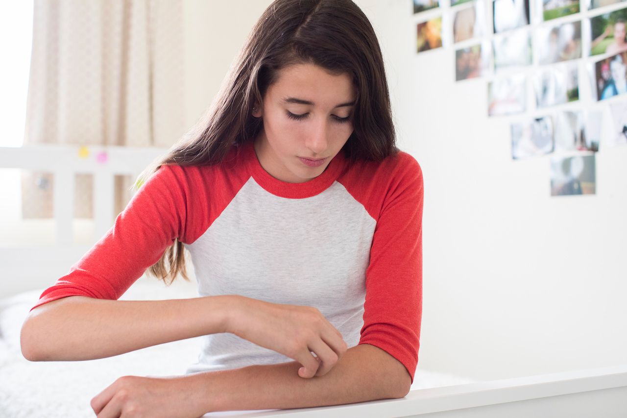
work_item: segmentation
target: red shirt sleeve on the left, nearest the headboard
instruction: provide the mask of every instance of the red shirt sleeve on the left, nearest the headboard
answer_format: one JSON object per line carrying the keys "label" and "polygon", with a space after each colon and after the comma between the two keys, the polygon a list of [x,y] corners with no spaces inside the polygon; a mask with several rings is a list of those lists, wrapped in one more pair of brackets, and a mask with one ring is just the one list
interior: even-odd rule
{"label": "red shirt sleeve on the left, nearest the headboard", "polygon": [[31,311],[66,296],[119,299],[159,261],[175,238],[184,237],[186,187],[181,166],[161,166],[140,187],[110,230],[55,284]]}

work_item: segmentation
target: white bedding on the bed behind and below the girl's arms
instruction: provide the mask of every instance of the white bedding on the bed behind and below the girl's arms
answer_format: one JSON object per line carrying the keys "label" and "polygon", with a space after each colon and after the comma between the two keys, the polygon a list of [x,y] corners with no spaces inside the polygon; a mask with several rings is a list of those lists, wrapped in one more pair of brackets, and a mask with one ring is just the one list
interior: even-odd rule
{"label": "white bedding on the bed behind and below the girl's arms", "polygon": [[[0,299],[0,418],[93,417],[90,400],[117,378],[182,375],[187,365],[196,360],[200,350],[198,338],[84,362],[29,362],[21,355],[19,331],[42,291],[37,289]],[[142,277],[120,299],[196,296],[194,283],[181,281],[166,287],[155,279]],[[411,389],[468,382],[472,380],[419,368]]]}

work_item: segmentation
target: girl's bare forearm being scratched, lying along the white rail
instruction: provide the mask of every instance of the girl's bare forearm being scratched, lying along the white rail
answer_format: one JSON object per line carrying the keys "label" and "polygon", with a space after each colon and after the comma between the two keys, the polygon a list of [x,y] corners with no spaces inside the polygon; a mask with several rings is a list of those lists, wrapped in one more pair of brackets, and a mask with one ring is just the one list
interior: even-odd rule
{"label": "girl's bare forearm being scratched, lying along the white rail", "polygon": [[404,365],[380,348],[361,344],[349,348],[329,373],[298,376],[298,362],[254,365],[188,375],[191,399],[200,409],[291,409],[395,399],[409,392],[411,378]]}

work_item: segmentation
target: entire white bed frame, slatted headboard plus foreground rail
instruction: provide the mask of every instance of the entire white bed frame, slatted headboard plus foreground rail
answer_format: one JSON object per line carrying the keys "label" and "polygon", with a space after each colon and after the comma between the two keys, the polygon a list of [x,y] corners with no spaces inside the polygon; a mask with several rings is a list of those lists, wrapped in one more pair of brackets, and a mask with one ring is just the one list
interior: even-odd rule
{"label": "entire white bed frame, slatted headboard plus foreground rail", "polygon": [[[5,279],[3,294],[50,286],[90,248],[72,243],[74,176],[92,173],[94,179],[94,237],[96,242],[111,227],[113,179],[117,174],[134,178],[147,164],[167,152],[157,148],[90,146],[90,156],[78,157],[76,146],[0,147],[0,169],[18,168],[55,174],[55,247],[0,249]],[[107,151],[105,164],[95,154]],[[38,262],[33,262],[38,260]],[[33,279],[33,277],[41,277]],[[418,389],[403,399],[379,400],[332,407],[250,412],[239,417],[627,417],[627,365],[578,370],[492,382]],[[211,414],[207,415],[211,416]]]}

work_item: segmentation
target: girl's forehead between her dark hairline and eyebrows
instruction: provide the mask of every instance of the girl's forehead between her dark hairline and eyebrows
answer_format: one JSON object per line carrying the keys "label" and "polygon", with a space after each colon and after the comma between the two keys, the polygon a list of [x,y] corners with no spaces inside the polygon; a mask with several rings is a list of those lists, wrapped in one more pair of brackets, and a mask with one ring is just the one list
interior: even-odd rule
{"label": "girl's forehead between her dark hairline and eyebrows", "polygon": [[274,100],[287,97],[314,102],[315,106],[335,107],[354,100],[356,88],[348,73],[335,75],[314,64],[295,64],[282,68],[277,81],[268,87]]}

